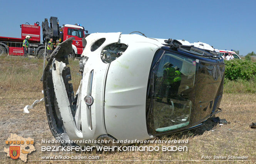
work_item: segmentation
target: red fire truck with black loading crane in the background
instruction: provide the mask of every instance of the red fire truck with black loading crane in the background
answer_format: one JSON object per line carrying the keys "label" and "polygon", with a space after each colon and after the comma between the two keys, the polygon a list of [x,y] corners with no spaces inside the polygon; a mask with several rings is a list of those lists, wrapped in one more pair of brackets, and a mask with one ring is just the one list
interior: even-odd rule
{"label": "red fire truck with black loading crane in the background", "polygon": [[[43,43],[40,43],[40,29],[39,22],[34,23],[34,25],[22,24],[21,28],[21,38],[10,38],[0,36],[0,55],[4,53],[9,53],[9,55],[23,56],[23,40],[27,35],[32,38],[29,39],[28,53],[33,56],[44,56],[45,42],[48,43],[50,38],[53,38],[54,43],[57,39],[64,41],[67,38],[75,37],[72,48],[73,53],[69,55],[69,58],[74,56],[80,56],[83,52],[82,38],[85,37],[83,26],[77,25],[63,25],[59,26],[59,21],[57,17],[50,17],[50,25],[48,19],[42,22],[42,34]],[[47,53],[47,52],[46,52]],[[47,55],[47,54],[45,54]]]}

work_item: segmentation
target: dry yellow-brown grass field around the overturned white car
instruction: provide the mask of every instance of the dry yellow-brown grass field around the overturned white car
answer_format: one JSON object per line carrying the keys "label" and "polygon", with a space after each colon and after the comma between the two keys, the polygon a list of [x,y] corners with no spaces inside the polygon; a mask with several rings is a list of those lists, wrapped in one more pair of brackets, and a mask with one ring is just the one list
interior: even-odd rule
{"label": "dry yellow-brown grass field around the overturned white car", "polygon": [[[77,90],[81,78],[78,72],[78,62],[71,61],[69,66],[72,71],[74,90]],[[185,145],[188,151],[42,152],[41,146],[56,145],[41,143],[42,139],[54,139],[48,126],[44,103],[38,104],[30,110],[30,113],[23,113],[25,105],[31,105],[35,100],[43,97],[42,82],[40,82],[42,67],[42,59],[0,56],[0,163],[23,163],[20,159],[13,160],[7,157],[6,153],[3,152],[3,148],[8,147],[5,145],[5,140],[10,136],[10,133],[35,139],[36,151],[28,155],[27,163],[256,163],[256,129],[249,127],[252,122],[256,122],[256,92],[250,92],[250,90],[245,92],[243,89],[243,87],[256,88],[253,82],[248,84],[227,82],[225,84],[225,93],[220,106],[223,112],[216,116],[221,119],[225,118],[230,122],[229,124],[214,125],[209,120],[206,125],[197,129],[159,138],[161,140],[188,139],[187,144],[154,143],[143,145],[159,146],[160,148],[162,146]],[[58,156],[60,154],[99,156],[99,160],[117,161],[31,161],[41,160],[42,156]],[[249,161],[208,161],[209,159],[202,159],[202,156],[211,156],[212,158],[214,156],[248,156],[247,160]]]}

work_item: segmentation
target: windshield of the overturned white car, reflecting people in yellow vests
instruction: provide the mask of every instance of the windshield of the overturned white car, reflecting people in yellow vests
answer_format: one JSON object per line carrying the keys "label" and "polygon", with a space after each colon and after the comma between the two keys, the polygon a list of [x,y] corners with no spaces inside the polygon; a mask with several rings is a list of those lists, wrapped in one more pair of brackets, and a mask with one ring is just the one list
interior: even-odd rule
{"label": "windshield of the overturned white car, reflecting people in yellow vests", "polygon": [[159,134],[189,125],[196,61],[168,52],[153,68],[148,94],[151,98],[146,104],[151,111],[147,118],[149,133]]}

